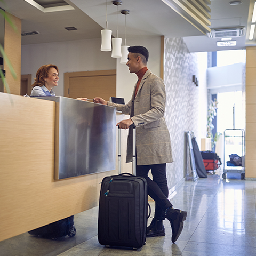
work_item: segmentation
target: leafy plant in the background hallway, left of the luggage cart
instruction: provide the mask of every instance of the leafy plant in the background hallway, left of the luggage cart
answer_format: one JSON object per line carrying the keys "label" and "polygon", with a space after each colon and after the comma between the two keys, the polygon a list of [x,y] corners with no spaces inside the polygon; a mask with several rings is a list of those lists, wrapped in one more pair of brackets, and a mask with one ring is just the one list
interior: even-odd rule
{"label": "leafy plant in the background hallway, left of the luggage cart", "polygon": [[215,151],[216,143],[222,133],[216,132],[215,136],[213,137],[212,129],[214,128],[214,125],[212,124],[213,118],[217,115],[217,109],[218,109],[218,101],[217,99],[214,99],[214,101],[211,101],[211,104],[209,105],[208,113],[207,113],[207,138],[211,138],[212,142],[212,151]]}

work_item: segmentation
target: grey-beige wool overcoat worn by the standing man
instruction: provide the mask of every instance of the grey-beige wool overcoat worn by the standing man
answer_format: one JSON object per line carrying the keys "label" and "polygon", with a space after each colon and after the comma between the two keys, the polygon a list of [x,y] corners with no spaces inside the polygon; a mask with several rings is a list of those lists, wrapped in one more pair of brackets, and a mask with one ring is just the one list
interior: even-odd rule
{"label": "grey-beige wool overcoat worn by the standing man", "polygon": [[[108,102],[125,115],[130,115],[136,126],[136,154],[138,165],[173,162],[170,134],[165,122],[165,86],[161,78],[147,70],[135,97],[126,104]],[[132,162],[132,129],[127,140],[126,163]]]}

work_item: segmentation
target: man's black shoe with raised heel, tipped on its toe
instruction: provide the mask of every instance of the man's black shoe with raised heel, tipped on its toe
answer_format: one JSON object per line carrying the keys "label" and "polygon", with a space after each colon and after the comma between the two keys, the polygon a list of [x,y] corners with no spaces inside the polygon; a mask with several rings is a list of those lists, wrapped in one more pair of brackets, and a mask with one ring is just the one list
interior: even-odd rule
{"label": "man's black shoe with raised heel, tipped on its toe", "polygon": [[166,212],[166,218],[170,221],[172,227],[172,242],[175,243],[183,229],[183,222],[187,218],[187,212],[170,207]]}

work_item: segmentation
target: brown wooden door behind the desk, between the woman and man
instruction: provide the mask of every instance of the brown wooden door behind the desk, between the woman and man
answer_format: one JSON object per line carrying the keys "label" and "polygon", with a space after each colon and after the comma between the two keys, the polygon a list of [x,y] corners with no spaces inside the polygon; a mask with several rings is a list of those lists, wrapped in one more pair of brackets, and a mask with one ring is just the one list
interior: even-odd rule
{"label": "brown wooden door behind the desk, between the woman and man", "polygon": [[69,98],[116,97],[116,70],[72,72],[64,74],[64,95]]}

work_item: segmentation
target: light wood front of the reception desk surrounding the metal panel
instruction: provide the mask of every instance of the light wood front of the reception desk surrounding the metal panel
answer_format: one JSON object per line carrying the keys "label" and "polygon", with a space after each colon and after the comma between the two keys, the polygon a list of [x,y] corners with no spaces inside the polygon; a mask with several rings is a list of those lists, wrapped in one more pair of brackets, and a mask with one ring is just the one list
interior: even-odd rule
{"label": "light wood front of the reception desk surrounding the metal panel", "polygon": [[[115,170],[54,179],[55,113],[55,101],[0,93],[0,241],[98,206],[100,182],[117,174],[115,154]],[[122,131],[123,156],[126,137]],[[122,170],[131,171],[125,157]]]}

